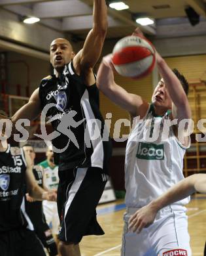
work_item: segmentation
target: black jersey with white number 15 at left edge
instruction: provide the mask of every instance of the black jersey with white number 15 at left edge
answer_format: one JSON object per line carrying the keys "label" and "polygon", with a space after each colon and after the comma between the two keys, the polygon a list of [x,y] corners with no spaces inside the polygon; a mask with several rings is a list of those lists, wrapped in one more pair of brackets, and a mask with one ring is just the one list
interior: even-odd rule
{"label": "black jersey with white number 15 at left edge", "polygon": [[[24,209],[26,161],[22,148],[0,152],[0,232],[27,226]],[[24,205],[23,205],[24,208]]]}

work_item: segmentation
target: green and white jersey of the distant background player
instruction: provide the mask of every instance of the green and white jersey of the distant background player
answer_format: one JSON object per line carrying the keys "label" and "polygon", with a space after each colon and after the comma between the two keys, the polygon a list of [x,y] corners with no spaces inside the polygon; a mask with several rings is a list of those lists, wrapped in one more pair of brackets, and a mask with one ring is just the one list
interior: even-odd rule
{"label": "green and white jersey of the distant background player", "polygon": [[53,168],[48,165],[48,161],[42,161],[39,163],[43,167],[43,182],[46,188],[57,189],[59,183],[58,177],[58,165],[55,165]]}

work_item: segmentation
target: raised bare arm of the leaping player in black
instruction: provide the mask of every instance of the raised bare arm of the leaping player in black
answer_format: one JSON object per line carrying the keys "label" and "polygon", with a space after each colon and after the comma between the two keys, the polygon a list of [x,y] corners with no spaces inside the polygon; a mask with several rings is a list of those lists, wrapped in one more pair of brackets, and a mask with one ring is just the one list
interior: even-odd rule
{"label": "raised bare arm of the leaping player in black", "polygon": [[93,28],[88,33],[82,50],[73,58],[75,70],[88,72],[101,55],[107,33],[107,5],[105,0],[94,0]]}

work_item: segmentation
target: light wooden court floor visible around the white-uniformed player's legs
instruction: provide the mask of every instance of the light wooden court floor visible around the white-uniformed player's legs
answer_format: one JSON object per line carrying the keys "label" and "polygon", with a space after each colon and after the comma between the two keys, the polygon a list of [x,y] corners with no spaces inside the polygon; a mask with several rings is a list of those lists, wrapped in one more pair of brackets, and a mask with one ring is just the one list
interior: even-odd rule
{"label": "light wooden court floor visible around the white-uniformed player's legs", "polygon": [[[192,255],[203,256],[206,241],[206,195],[192,196],[186,207]],[[105,235],[85,236],[80,243],[82,256],[120,256],[124,212],[125,205],[120,200],[97,207],[97,219]]]}

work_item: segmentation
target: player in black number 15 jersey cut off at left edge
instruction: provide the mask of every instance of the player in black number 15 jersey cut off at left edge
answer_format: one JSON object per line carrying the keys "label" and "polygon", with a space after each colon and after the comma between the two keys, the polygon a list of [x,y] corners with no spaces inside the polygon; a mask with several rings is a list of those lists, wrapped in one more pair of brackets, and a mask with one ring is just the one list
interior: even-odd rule
{"label": "player in black number 15 jersey cut off at left edge", "polygon": [[[4,136],[1,133],[1,136]],[[54,193],[37,185],[31,160],[22,148],[0,140],[0,255],[44,256],[44,249],[26,213],[25,192],[36,200],[53,200]]]}

